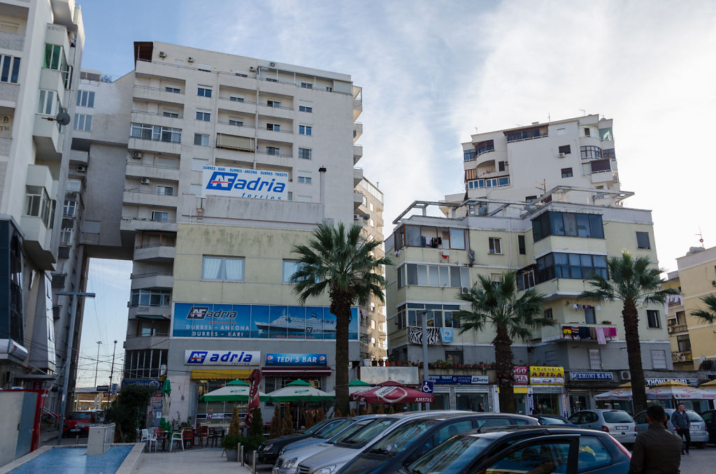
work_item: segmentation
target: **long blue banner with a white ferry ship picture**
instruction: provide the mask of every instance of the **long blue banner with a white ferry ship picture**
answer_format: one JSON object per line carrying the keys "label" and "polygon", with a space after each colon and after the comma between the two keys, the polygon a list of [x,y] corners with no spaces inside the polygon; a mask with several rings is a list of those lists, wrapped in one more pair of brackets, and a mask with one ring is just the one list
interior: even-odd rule
{"label": "long blue banner with a white ferry ship picture", "polygon": [[[336,339],[336,316],[327,306],[175,303],[172,319],[173,337]],[[357,308],[348,338],[358,339]]]}

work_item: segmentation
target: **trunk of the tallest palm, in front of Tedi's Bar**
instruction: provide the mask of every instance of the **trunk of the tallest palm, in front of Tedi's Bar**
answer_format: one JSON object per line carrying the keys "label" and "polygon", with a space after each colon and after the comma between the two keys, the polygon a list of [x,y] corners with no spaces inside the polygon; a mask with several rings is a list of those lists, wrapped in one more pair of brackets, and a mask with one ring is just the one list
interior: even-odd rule
{"label": "trunk of the tallest palm, in front of Tedi's Bar", "polygon": [[351,319],[351,296],[330,291],[331,312],[336,315],[336,405],[335,410],[347,416],[348,400],[348,325]]}

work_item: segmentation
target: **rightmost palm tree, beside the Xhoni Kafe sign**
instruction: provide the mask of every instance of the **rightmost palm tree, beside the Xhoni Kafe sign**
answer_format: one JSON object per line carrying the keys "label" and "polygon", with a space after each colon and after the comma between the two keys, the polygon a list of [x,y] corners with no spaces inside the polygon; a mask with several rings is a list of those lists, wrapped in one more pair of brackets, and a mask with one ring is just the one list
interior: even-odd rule
{"label": "rightmost palm tree, beside the Xhoni Kafe sign", "polygon": [[638,413],[647,409],[647,389],[644,387],[637,304],[639,301],[664,304],[667,295],[678,294],[678,291],[661,289],[663,270],[652,266],[648,257],[632,257],[624,251],[621,257],[607,258],[606,266],[609,280],[598,274],[592,275],[589,285],[594,289],[583,291],[579,298],[622,302],[621,317],[624,319],[624,338],[627,339],[629,372],[632,372],[632,400],[634,413]]}

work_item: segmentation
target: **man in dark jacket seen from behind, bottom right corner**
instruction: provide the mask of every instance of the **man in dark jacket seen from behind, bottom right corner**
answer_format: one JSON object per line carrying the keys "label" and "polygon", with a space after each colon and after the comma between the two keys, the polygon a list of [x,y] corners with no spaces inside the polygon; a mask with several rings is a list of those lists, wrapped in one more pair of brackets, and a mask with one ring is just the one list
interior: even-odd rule
{"label": "man in dark jacket seen from behind, bottom right corner", "polygon": [[679,474],[681,439],[664,428],[664,408],[647,408],[649,429],[637,436],[629,474]]}

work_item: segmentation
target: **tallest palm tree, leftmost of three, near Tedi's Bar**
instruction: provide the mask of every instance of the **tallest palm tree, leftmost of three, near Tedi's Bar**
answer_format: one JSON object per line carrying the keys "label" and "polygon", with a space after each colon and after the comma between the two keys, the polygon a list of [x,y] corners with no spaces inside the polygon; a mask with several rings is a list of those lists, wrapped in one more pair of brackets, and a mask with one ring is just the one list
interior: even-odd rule
{"label": "tallest palm tree, leftmost of three, near Tedi's Bar", "polygon": [[337,228],[321,223],[308,245],[294,246],[299,269],[291,275],[294,293],[301,304],[310,297],[328,291],[331,312],[336,316],[336,410],[349,413],[348,405],[348,324],[351,306],[367,304],[371,295],[383,300],[385,279],[381,266],[391,265],[390,258],[375,258],[373,251],[382,241],[367,241],[360,235],[362,227]]}

